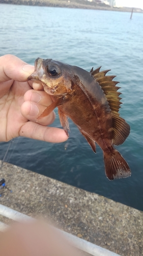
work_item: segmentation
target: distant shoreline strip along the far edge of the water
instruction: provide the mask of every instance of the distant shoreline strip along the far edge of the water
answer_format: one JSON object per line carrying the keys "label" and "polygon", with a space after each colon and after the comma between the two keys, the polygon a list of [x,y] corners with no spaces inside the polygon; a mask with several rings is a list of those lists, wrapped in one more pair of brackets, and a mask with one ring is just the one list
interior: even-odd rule
{"label": "distant shoreline strip along the far edge of the water", "polygon": [[[0,4],[13,5],[30,5],[30,6],[47,6],[47,7],[61,7],[61,8],[77,8],[77,9],[93,9],[93,10],[108,10],[131,12],[129,7],[110,7],[105,4],[96,4],[94,2],[85,2],[83,0],[0,0]],[[134,12],[143,13],[142,9],[134,8]]]}

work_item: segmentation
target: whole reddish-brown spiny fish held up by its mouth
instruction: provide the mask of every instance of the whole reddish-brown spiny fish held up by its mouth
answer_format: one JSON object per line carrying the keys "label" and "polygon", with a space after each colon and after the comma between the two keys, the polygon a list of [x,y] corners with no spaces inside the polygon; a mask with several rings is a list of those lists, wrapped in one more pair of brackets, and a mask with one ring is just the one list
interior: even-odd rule
{"label": "whole reddish-brown spiny fish held up by its mouth", "polygon": [[116,76],[100,68],[90,72],[53,59],[37,58],[35,71],[28,80],[40,82],[53,102],[38,117],[43,118],[58,107],[61,125],[69,136],[70,118],[96,153],[96,143],[103,151],[105,174],[109,180],[131,175],[128,163],[115,146],[124,143],[129,124],[120,116],[122,102]]}

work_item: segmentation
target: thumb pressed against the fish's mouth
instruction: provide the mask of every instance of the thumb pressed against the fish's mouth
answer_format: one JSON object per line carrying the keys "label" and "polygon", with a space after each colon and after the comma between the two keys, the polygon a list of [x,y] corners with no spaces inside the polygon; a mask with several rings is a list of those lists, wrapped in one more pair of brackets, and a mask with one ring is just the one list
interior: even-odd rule
{"label": "thumb pressed against the fish's mouth", "polygon": [[28,65],[23,60],[14,55],[4,55],[0,57],[0,82],[16,80],[27,81],[27,77],[34,72],[34,66]]}

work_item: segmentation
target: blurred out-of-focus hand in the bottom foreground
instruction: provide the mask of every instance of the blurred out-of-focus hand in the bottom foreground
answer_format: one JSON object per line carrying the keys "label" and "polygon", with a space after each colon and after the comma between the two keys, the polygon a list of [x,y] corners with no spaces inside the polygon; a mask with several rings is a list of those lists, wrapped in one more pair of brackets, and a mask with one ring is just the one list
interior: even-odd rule
{"label": "blurred out-of-focus hand in the bottom foreground", "polygon": [[15,223],[0,232],[0,248],[4,256],[83,256],[60,230],[43,221]]}

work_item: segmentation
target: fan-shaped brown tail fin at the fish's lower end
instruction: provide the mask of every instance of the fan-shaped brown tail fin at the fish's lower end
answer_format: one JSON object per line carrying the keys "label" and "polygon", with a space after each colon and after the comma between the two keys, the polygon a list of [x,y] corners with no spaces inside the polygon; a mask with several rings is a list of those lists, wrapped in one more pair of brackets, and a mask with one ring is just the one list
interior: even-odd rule
{"label": "fan-shaped brown tail fin at the fish's lower end", "polygon": [[104,152],[105,174],[109,180],[127,178],[131,170],[121,154],[113,148],[112,154]]}

